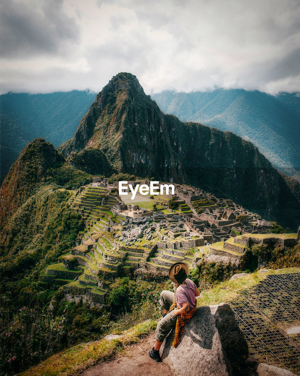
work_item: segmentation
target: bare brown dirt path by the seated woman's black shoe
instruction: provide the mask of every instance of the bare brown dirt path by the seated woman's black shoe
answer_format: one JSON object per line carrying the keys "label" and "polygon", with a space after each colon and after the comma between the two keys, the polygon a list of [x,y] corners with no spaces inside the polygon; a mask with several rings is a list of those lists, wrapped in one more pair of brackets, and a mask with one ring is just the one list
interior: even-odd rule
{"label": "bare brown dirt path by the seated woman's black shoe", "polygon": [[125,346],[126,356],[105,361],[83,371],[80,376],[173,376],[169,367],[149,357],[154,346],[154,331],[131,346]]}

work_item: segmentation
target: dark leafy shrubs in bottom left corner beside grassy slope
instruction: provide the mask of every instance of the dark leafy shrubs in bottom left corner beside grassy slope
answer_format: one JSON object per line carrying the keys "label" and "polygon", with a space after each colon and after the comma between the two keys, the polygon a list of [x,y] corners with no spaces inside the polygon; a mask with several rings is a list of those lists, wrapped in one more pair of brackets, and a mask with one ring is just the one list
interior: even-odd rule
{"label": "dark leafy shrubs in bottom left corner beside grassy slope", "polygon": [[60,344],[65,317],[52,318],[45,293],[27,279],[28,305],[15,312],[11,294],[1,291],[0,333],[2,373],[15,374],[51,355]]}

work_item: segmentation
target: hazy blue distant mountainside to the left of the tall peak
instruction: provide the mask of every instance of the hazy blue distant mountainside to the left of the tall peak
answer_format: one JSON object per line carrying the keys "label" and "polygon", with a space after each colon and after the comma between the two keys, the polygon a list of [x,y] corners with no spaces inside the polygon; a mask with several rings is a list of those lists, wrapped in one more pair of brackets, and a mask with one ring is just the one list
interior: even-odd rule
{"label": "hazy blue distant mountainside to the left of the tall peak", "polygon": [[1,182],[22,149],[34,138],[43,137],[56,147],[72,137],[95,98],[95,93],[75,90],[1,95]]}

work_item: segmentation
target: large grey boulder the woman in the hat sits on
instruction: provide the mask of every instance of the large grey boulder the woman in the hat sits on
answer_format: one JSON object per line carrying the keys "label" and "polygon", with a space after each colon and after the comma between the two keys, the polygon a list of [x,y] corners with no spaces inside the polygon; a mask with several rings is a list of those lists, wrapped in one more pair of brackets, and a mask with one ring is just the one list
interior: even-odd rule
{"label": "large grey boulder the woman in the hat sits on", "polygon": [[173,329],[160,348],[174,376],[231,376],[248,358],[248,345],[229,304],[196,309],[176,347]]}

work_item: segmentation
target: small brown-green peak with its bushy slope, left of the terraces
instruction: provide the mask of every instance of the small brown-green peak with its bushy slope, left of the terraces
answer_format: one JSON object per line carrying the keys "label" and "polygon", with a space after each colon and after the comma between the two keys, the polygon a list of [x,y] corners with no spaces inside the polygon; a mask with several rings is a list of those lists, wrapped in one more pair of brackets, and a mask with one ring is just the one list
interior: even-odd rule
{"label": "small brown-green peak with its bushy slope, left of the terraces", "polygon": [[1,280],[22,304],[23,278],[40,271],[75,246],[84,228],[68,205],[68,189],[91,176],[65,162],[46,143],[35,139],[23,150],[1,185]]}

